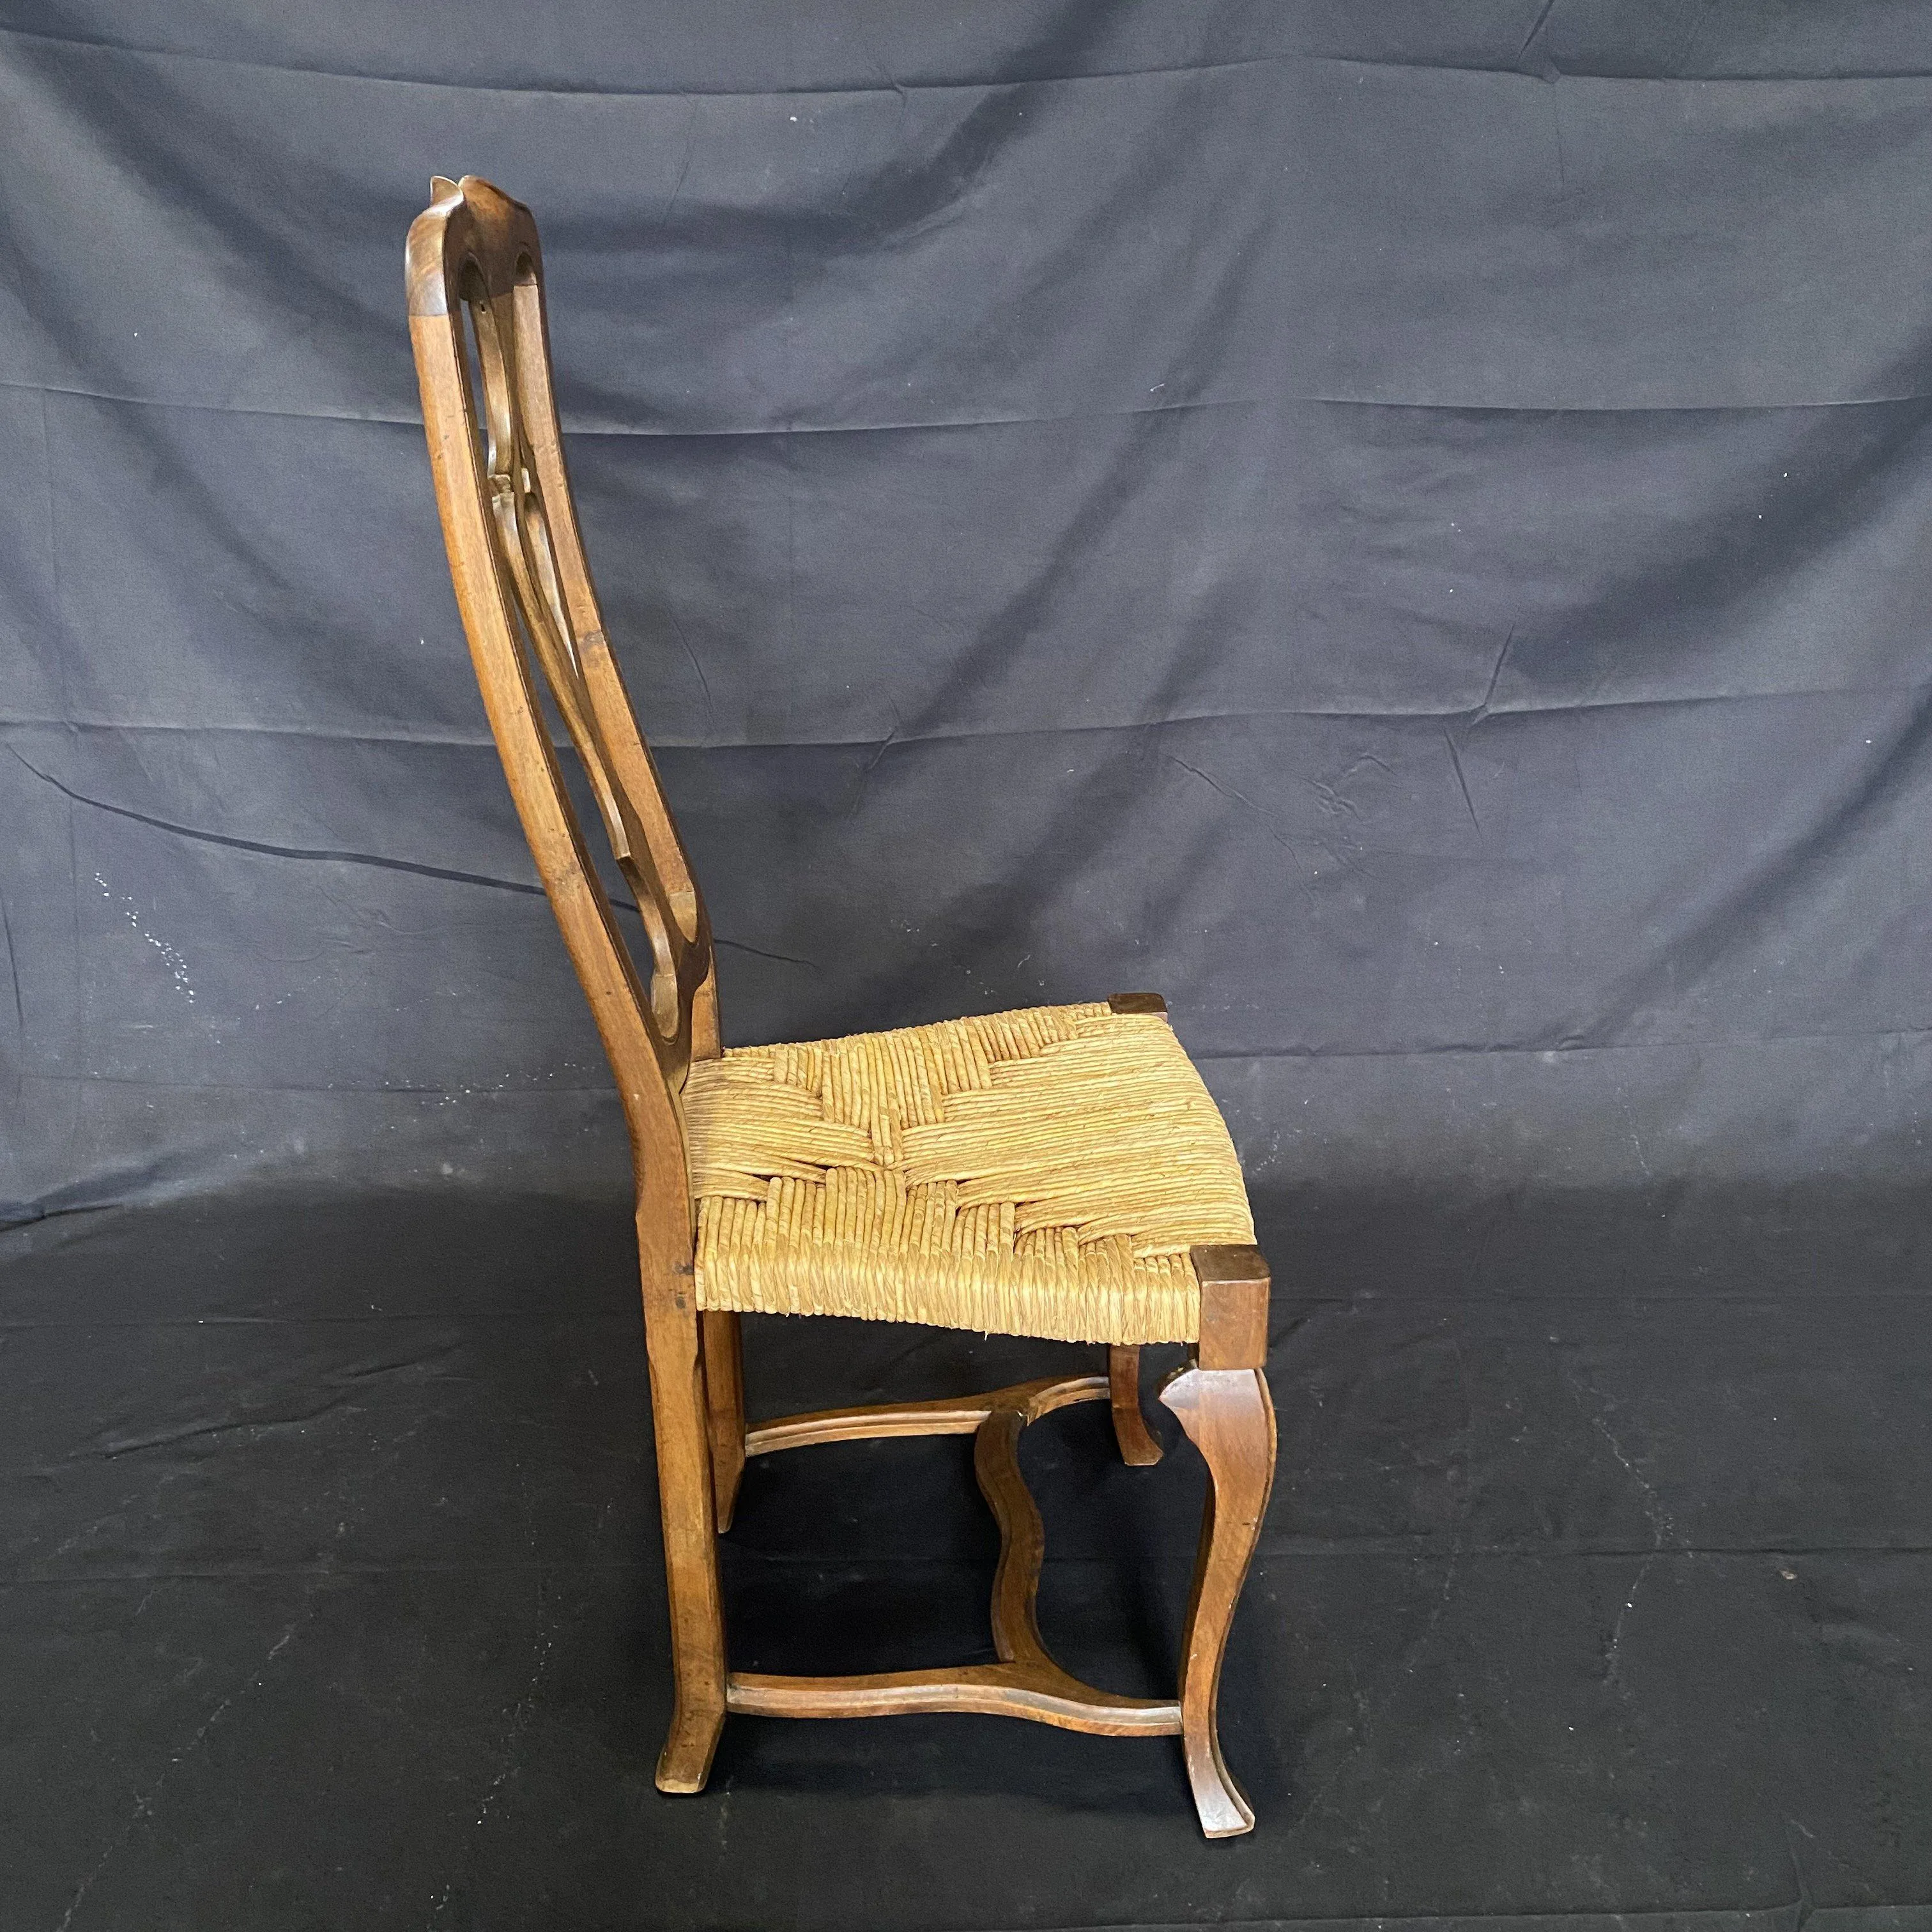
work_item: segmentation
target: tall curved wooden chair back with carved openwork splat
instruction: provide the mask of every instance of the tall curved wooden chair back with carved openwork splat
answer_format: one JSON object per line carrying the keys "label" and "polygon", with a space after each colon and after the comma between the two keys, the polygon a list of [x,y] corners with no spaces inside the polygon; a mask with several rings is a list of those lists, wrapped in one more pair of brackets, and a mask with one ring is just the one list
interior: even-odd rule
{"label": "tall curved wooden chair back with carved openwork splat", "polygon": [[[692,1059],[719,1051],[711,927],[578,535],[537,224],[477,176],[431,185],[410,228],[410,338],[456,597],[516,810],[618,1076],[639,1180],[651,1169],[668,1208],[684,1196],[674,1095]],[[641,962],[585,848],[543,692],[636,895]]]}

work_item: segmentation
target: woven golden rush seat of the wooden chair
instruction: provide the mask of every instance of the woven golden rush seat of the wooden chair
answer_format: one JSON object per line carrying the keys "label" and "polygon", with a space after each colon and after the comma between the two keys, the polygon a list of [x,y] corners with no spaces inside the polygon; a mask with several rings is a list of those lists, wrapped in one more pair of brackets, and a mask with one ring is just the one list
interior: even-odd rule
{"label": "woven golden rush seat of the wooden chair", "polygon": [[1235,1144],[1161,1014],[736,1047],[692,1063],[684,1130],[703,1310],[1194,1341],[1188,1248],[1254,1240]]}

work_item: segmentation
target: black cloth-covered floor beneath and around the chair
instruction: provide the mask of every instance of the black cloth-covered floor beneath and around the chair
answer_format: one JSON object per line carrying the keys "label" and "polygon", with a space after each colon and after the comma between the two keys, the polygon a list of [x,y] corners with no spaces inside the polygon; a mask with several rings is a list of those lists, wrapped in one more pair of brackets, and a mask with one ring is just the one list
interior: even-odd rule
{"label": "black cloth-covered floor beneath and around the chair", "polygon": [[[622,1209],[363,1196],[0,1236],[0,1926],[1932,1926],[1932,1213],[1310,1211],[1231,1648],[1175,1747],[667,1718]],[[1155,1350],[1159,1354],[1159,1350]],[[1092,1350],[752,1321],[753,1406]],[[1171,1449],[1179,1435],[1165,1412]],[[1202,1476],[1028,1432],[1063,1662],[1159,1690]],[[734,1662],[989,1656],[960,1441],[753,1464]]]}

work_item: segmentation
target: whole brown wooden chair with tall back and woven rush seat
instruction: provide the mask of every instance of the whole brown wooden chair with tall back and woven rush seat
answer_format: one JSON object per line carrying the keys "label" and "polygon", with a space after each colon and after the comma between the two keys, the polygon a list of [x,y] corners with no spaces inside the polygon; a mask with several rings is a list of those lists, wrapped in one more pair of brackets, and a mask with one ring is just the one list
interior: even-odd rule
{"label": "whole brown wooden chair with tall back and woven rush seat", "polygon": [[[510,792],[597,1018],[630,1126],[676,1702],[663,1791],[703,1787],[726,1712],[972,1710],[1182,1739],[1202,1828],[1254,1826],[1215,1698],[1275,1466],[1267,1264],[1206,1086],[1151,993],[808,1045],[719,1043],[705,904],[605,638],[551,394],[529,211],[475,176],[410,228],[410,334],[442,535]],[[553,746],[589,779],[645,945],[628,947]],[[840,1314],[1105,1343],[1107,1374],[958,1401],[746,1424],[740,1316]],[[1153,1463],[1138,1350],[1188,1343],[1161,1401],[1209,1470],[1180,1694],[1095,1690],[1034,1617],[1028,1422],[1111,1401]],[[746,1457],[873,1435],[974,1435],[999,1522],[997,1663],[775,1677],[726,1663],[715,1538]]]}

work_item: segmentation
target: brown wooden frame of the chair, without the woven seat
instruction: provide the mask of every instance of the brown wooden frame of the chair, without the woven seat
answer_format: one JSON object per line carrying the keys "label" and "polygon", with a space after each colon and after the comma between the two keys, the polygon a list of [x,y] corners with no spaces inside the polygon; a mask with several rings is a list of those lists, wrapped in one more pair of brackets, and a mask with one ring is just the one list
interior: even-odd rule
{"label": "brown wooden frame of the chair, without the woven seat", "polygon": [[[1072,1731],[1179,1735],[1202,1830],[1209,1837],[1252,1830],[1254,1812],[1221,1760],[1215,1704],[1275,1470],[1275,1418],[1262,1376],[1269,1283],[1256,1248],[1194,1250],[1200,1341],[1161,1389],[1209,1472],[1175,1698],[1115,1696],[1068,1677],[1047,1654],[1034,1615],[1045,1540],[1020,1478],[1020,1432],[1068,1403],[1107,1401],[1122,1459],[1157,1461],[1161,1449],[1140,1406],[1138,1349],[1109,1349],[1105,1376],[746,1424],[738,1316],[699,1312],[696,1300],[676,1099],[690,1063],[721,1051],[711,927],[605,638],[578,535],[551,390],[537,226],[526,207],[475,176],[439,176],[431,193],[410,228],[410,336],[450,576],[504,775],[630,1130],[674,1679],[659,1789],[703,1787],[726,1712],[970,1710]],[[641,966],[585,846],[547,701],[583,763],[634,895]],[[1153,993],[1122,993],[1113,1007],[1167,1010]],[[999,1662],[866,1677],[728,1669],[717,1536],[730,1526],[748,1457],[858,1437],[966,1434],[1001,1532],[991,1605]]]}

